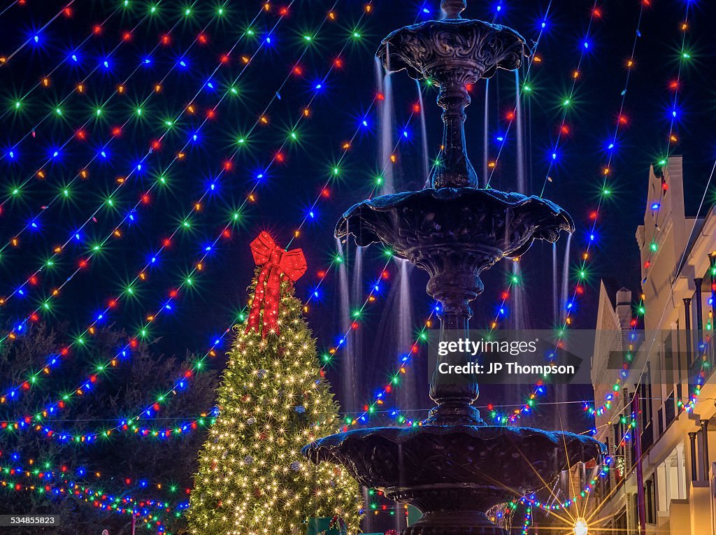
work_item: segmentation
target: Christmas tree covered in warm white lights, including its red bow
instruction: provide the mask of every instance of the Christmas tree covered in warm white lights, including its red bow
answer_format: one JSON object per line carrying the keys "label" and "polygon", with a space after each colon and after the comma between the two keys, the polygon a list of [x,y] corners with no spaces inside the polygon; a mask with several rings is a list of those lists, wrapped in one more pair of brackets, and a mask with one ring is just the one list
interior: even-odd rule
{"label": "Christmas tree covered in warm white lights, including its red bow", "polygon": [[314,466],[301,448],[339,427],[338,405],[316,357],[293,281],[300,249],[261,233],[245,326],[218,390],[221,411],[200,451],[188,519],[193,534],[304,535],[311,519],[359,531],[359,486],[339,466]]}

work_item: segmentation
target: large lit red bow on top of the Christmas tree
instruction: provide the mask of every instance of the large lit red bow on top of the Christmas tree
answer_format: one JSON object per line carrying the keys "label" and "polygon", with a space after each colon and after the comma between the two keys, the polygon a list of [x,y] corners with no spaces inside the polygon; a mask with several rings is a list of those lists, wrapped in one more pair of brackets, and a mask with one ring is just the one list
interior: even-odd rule
{"label": "large lit red bow on top of the Christmas tree", "polygon": [[[281,275],[295,282],[306,273],[304,251],[284,251],[266,232],[251,242],[251,254],[257,266],[263,266],[256,281],[256,291],[251,302],[251,312],[246,322],[246,332],[254,329],[264,338],[269,332],[279,332],[279,302],[281,301]],[[263,326],[259,317],[263,305]]]}

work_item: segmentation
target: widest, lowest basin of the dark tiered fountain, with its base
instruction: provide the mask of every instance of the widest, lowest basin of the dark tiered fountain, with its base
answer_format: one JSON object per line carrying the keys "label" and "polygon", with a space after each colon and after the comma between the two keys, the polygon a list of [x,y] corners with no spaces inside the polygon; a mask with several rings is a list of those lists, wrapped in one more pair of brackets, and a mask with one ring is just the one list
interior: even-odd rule
{"label": "widest, lowest basin of the dark tiered fountain, with its base", "polygon": [[574,433],[421,425],[339,433],[303,453],[314,463],[338,463],[362,485],[420,509],[423,519],[407,535],[501,535],[484,511],[539,491],[575,463],[599,463],[606,450]]}

